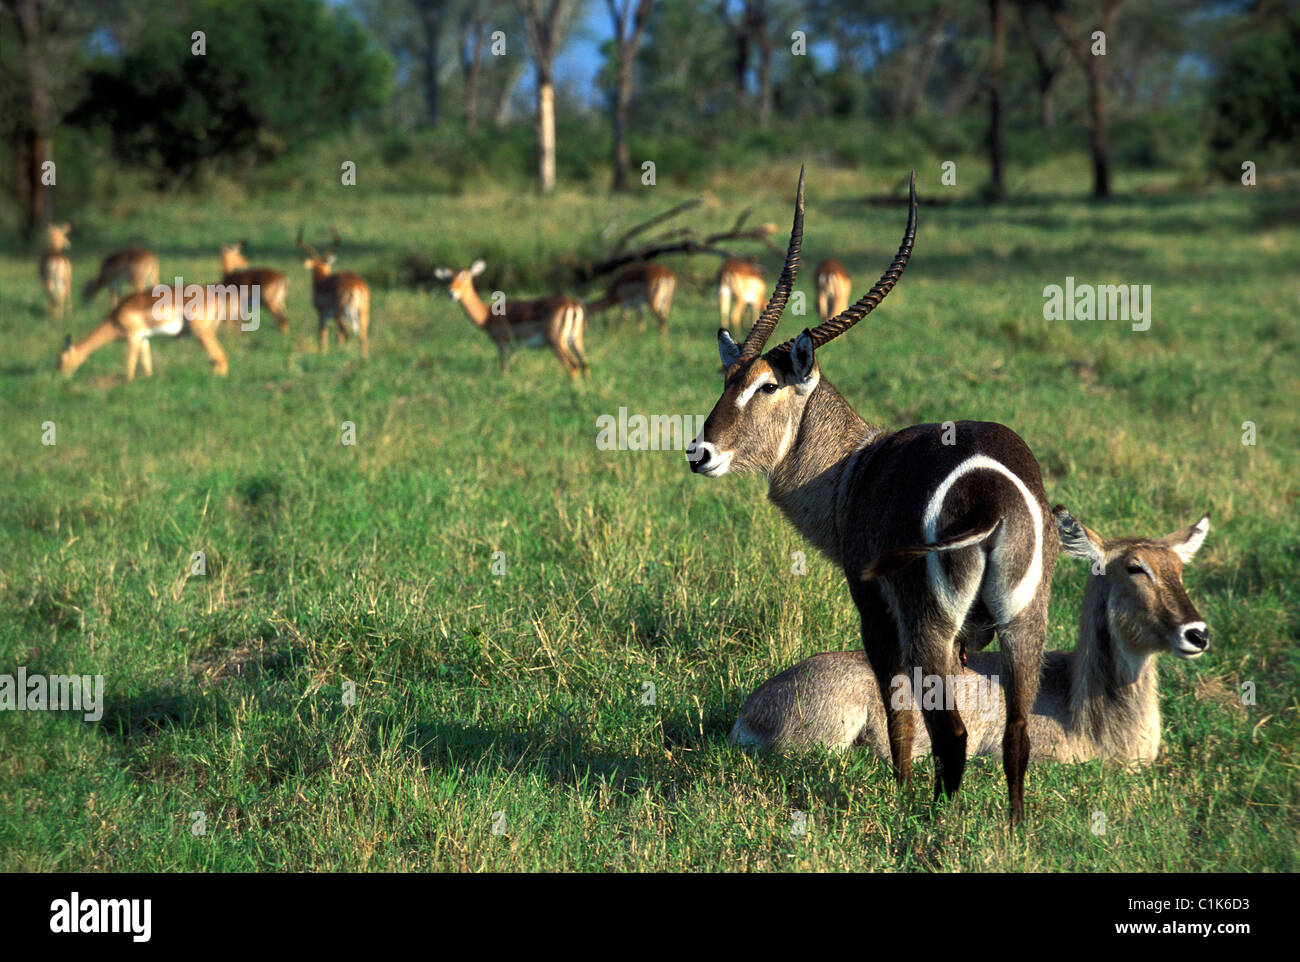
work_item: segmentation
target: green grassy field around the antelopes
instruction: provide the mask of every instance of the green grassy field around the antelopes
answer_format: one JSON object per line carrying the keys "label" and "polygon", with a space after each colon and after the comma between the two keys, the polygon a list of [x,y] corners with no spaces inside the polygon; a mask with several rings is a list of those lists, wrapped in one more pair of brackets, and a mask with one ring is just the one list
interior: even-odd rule
{"label": "green grassy field around the antelopes", "polygon": [[[784,230],[796,172],[715,185],[703,218],[753,203]],[[904,209],[859,198],[901,173],[811,166],[806,263],[871,283]],[[134,198],[77,224],[78,287],[126,242],[165,280],[214,280],[218,242],[246,238],[290,274],[292,330],[224,334],[225,380],[183,339],[156,346],[152,380],[125,384],[113,344],[64,381],[64,332],[104,302],[52,324],[34,256],[0,250],[0,672],[101,673],[107,702],[98,724],[0,712],[0,870],[1295,871],[1300,204],[1121,178],[1130,195],[1093,205],[1084,185],[1079,161],[1023,203],[923,207],[902,282],[820,361],[874,424],[1011,425],[1049,498],[1104,534],[1213,512],[1187,573],[1212,647],[1162,659],[1152,768],[1035,767],[1008,835],[998,766],[932,820],[928,762],[900,797],[871,755],[727,745],[749,690],[858,637],[842,577],[760,478],[597,450],[620,407],[711,408],[716,263],[689,266],[667,339],[593,322],[578,390],[541,351],[499,377],[445,292],[399,282],[485,256],[488,290],[546,292],[552,265],[686,194]],[[341,266],[374,281],[368,363],[313,348],[291,239],[332,221]],[[1150,329],[1045,321],[1067,276],[1150,285]],[[1062,559],[1049,646],[1074,644],[1084,575]]]}

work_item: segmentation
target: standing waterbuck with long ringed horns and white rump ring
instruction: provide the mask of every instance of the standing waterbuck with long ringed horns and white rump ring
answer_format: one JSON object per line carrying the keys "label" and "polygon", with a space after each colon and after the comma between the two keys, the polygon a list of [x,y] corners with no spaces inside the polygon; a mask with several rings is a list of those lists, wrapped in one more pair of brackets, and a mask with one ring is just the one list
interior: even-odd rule
{"label": "standing waterbuck with long ringed horns and white rump ring", "polygon": [[[894,775],[911,775],[913,716],[888,706],[889,681],[920,668],[952,677],[957,644],[997,630],[1006,688],[1002,759],[1011,822],[1023,816],[1028,714],[1037,690],[1057,536],[1039,464],[1010,428],[984,421],[868,425],[818,367],[815,351],[889,294],[911,257],[916,187],[888,270],[861,300],[760,354],[781,317],[803,239],[803,172],[785,266],[745,342],[720,330],[723,394],[688,446],[696,473],[763,472],[767,497],[840,564],[885,715]],[[918,545],[919,542],[919,545]],[[907,563],[920,560],[924,563]],[[874,577],[868,567],[888,559]],[[935,797],[954,796],[966,766],[956,707],[922,706],[936,759]]]}

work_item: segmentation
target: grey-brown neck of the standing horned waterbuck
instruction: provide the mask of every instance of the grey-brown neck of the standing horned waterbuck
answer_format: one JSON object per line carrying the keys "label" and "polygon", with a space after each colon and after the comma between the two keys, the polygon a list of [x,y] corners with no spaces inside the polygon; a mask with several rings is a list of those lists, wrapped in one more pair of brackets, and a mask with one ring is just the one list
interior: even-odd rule
{"label": "grey-brown neck of the standing horned waterbuck", "polygon": [[840,481],[863,442],[881,434],[823,377],[812,389],[784,456],[768,474],[768,499],[837,564]]}

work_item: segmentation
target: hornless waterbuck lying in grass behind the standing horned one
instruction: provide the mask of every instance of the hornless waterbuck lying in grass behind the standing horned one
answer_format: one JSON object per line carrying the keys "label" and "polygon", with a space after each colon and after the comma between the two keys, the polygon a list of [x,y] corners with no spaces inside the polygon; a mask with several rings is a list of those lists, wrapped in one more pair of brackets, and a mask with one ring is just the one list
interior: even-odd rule
{"label": "hornless waterbuck lying in grass behind the standing horned one", "polygon": [[[1102,540],[1056,510],[1066,554],[1093,563],[1083,594],[1074,651],[1048,651],[1030,714],[1031,760],[1105,758],[1150,764],[1160,751],[1156,656],[1193,659],[1209,630],[1183,588],[1183,566],[1209,532],[1209,515],[1164,538]],[[998,659],[974,654],[958,676],[954,701],[967,725],[967,758],[1001,755],[1006,701]],[[992,697],[989,697],[992,696]],[[905,676],[890,698],[924,697]],[[812,655],[764,682],[740,710],[731,741],[762,749],[863,745],[889,758],[885,711],[863,651]],[[922,729],[913,759],[930,751]]]}

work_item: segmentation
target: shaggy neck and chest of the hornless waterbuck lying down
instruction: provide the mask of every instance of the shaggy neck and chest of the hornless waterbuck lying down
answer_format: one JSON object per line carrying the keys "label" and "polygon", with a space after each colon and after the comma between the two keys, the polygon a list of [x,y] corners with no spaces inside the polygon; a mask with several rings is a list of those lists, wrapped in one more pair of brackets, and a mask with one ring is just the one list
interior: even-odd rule
{"label": "shaggy neck and chest of the hornless waterbuck lying down", "polygon": [[1105,577],[1088,577],[1070,671],[1070,728],[1100,757],[1153,760],[1160,751],[1156,655],[1134,655],[1122,645],[1123,624],[1112,616],[1109,595]]}

